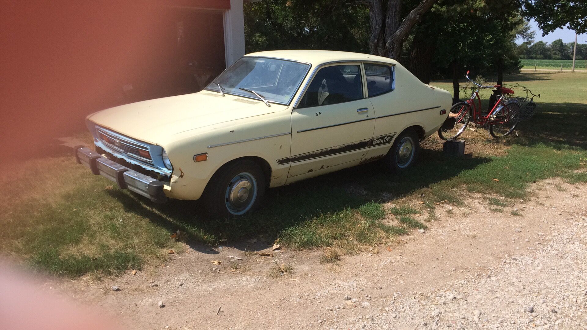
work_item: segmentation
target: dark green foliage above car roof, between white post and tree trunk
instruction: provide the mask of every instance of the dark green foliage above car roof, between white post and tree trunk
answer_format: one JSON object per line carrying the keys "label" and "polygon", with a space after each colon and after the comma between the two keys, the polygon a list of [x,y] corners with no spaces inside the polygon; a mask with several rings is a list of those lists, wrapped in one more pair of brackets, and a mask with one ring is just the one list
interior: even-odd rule
{"label": "dark green foliage above car roof, between white post and tree trunk", "polygon": [[369,52],[369,10],[332,0],[245,3],[246,50],[327,49]]}

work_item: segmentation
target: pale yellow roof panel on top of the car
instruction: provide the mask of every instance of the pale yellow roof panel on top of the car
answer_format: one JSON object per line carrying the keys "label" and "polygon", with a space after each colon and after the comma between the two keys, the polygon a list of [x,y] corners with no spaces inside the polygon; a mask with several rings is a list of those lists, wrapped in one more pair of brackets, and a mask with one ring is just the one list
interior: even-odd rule
{"label": "pale yellow roof panel on top of the car", "polygon": [[327,62],[341,62],[347,60],[385,62],[393,65],[397,64],[396,60],[384,58],[382,56],[369,55],[363,53],[338,52],[335,50],[268,50],[266,52],[250,53],[245,56],[262,56],[268,58],[296,60],[298,62],[310,63],[312,66],[318,66]]}

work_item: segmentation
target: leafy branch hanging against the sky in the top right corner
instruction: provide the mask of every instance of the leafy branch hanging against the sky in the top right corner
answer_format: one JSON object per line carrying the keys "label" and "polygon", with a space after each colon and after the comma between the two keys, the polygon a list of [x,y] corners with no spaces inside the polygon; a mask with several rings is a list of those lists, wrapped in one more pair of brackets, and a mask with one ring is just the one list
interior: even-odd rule
{"label": "leafy branch hanging against the sky in the top right corner", "polygon": [[525,15],[536,20],[542,36],[567,25],[576,33],[587,32],[585,0],[527,0],[524,9]]}

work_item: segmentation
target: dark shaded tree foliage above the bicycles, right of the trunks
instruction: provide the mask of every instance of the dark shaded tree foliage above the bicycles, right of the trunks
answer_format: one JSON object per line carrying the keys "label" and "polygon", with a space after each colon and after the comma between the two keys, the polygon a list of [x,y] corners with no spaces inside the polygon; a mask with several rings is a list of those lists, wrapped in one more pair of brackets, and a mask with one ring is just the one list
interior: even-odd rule
{"label": "dark shaded tree foliage above the bicycles, right of the trunks", "polygon": [[[457,94],[458,79],[469,69],[498,76],[519,70],[514,42],[518,37],[534,35],[517,2],[440,0],[414,31],[412,50],[404,62],[423,82],[434,74],[453,78]],[[429,59],[414,52],[421,48],[428,48],[424,53]]]}

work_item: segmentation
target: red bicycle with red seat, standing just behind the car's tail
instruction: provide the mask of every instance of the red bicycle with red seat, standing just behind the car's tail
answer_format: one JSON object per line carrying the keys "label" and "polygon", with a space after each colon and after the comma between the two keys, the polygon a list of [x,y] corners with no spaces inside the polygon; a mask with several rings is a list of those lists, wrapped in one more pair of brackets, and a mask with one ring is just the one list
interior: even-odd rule
{"label": "red bicycle with red seat, standing just behind the car's tail", "polygon": [[[471,120],[478,127],[488,128],[489,133],[495,139],[514,132],[519,123],[519,112],[522,109],[518,102],[508,99],[508,96],[514,94],[514,91],[501,85],[482,86],[469,78],[468,71],[465,77],[479,88],[473,91],[470,99],[455,103],[450,108],[449,117],[454,118],[454,126],[440,127],[438,130],[440,139],[456,139],[467,129]],[[490,106],[487,113],[481,111],[481,98],[479,97],[481,88],[495,88],[493,95],[490,97]],[[478,102],[475,102],[475,97]]]}

